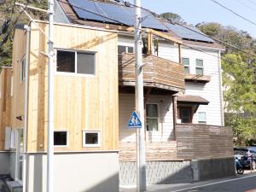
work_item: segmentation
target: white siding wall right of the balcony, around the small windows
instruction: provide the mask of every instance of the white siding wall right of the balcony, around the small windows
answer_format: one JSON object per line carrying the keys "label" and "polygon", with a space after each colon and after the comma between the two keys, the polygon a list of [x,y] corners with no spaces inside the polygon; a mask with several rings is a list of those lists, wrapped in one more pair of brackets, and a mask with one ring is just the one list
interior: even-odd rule
{"label": "white siding wall right of the balcony, around the small windows", "polygon": [[[186,82],[185,94],[193,96],[201,96],[210,103],[208,105],[200,105],[198,112],[207,113],[207,125],[222,125],[222,98],[220,90],[220,72],[218,66],[218,51],[207,51],[211,55],[207,55],[198,50],[182,49],[182,56],[189,58],[190,73],[195,74],[195,59],[202,59],[204,64],[204,75],[211,76],[211,80],[207,84]],[[214,56],[215,55],[215,56]],[[198,122],[197,113],[193,118],[193,123]]]}

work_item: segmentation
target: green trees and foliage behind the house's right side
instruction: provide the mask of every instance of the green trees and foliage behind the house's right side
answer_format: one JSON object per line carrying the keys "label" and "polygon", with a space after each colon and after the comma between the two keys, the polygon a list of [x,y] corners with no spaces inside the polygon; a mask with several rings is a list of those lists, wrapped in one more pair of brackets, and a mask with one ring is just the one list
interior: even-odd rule
{"label": "green trees and foliage behind the house's right side", "polygon": [[[198,24],[207,35],[256,52],[255,39],[247,32],[218,23]],[[236,144],[250,144],[256,138],[256,58],[226,46],[222,55],[225,125],[233,129]]]}

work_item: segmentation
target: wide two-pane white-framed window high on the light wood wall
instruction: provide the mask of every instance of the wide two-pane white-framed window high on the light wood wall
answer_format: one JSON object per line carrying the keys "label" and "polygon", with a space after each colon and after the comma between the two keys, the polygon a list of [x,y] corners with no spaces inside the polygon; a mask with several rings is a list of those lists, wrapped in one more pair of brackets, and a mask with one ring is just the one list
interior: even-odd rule
{"label": "wide two-pane white-framed window high on the light wood wall", "polygon": [[[61,51],[67,51],[67,52],[74,52],[75,53],[75,72],[58,72],[57,70],[57,52],[58,50]],[[78,52],[79,53],[88,53],[90,55],[94,55],[94,74],[84,74],[84,73],[78,73]],[[89,78],[95,78],[96,77],[96,51],[87,51],[87,50],[79,50],[79,49],[55,49],[55,75],[61,75],[61,76],[75,76],[75,77],[89,77]]]}

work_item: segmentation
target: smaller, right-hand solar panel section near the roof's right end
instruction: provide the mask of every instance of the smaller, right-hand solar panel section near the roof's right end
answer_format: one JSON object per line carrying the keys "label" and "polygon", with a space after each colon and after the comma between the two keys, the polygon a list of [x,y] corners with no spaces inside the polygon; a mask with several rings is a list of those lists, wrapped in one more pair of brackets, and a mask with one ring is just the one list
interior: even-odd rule
{"label": "smaller, right-hand solar panel section near the roof's right end", "polygon": [[[175,32],[177,34],[177,36],[179,36],[180,38],[186,38],[186,39],[203,41],[203,42],[211,42],[211,43],[214,42],[212,40],[212,38],[207,38],[206,36],[204,36],[204,34],[199,29],[197,29],[195,26],[186,26],[195,32],[193,32],[183,26],[173,25],[171,23],[166,24],[166,26],[168,28],[170,28],[172,30],[172,32]],[[201,34],[198,32],[200,32]]]}

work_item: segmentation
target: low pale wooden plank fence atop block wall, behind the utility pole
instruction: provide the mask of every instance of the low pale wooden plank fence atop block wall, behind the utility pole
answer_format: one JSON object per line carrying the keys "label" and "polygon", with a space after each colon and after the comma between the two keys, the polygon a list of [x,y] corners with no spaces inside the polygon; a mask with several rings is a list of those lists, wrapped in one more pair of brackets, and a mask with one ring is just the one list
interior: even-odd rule
{"label": "low pale wooden plank fence atop block wall, behind the utility pole", "polygon": [[[136,143],[119,143],[119,160],[136,161]],[[177,142],[146,143],[146,160],[177,160]]]}

